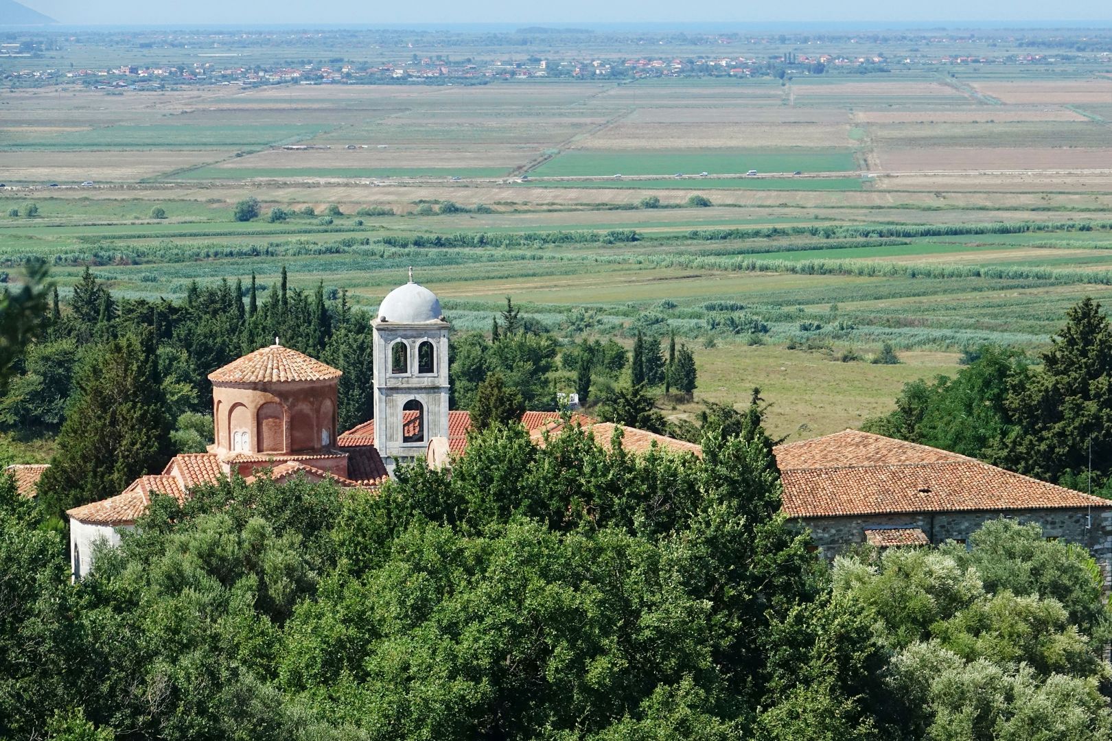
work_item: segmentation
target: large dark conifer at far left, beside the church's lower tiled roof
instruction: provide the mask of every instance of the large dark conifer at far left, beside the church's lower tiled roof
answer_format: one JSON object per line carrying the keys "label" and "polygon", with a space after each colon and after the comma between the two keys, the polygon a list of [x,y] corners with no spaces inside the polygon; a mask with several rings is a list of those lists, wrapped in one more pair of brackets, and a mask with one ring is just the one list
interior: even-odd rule
{"label": "large dark conifer at far left, beside the church's lower tiled roof", "polygon": [[113,497],[170,457],[152,332],[128,334],[91,351],[75,378],[57,453],[39,482],[48,514]]}

